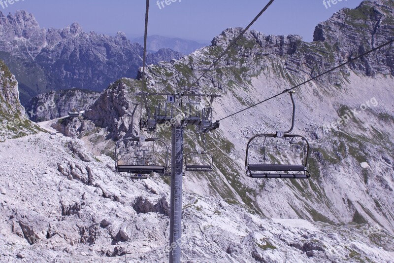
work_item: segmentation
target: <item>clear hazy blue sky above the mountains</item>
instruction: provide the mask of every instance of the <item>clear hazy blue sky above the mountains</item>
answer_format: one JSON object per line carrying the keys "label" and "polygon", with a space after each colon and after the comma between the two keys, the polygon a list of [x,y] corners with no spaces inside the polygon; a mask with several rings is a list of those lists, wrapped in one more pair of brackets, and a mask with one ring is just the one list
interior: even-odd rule
{"label": "clear hazy blue sky above the mountains", "polygon": [[[2,0],[5,2],[6,0]],[[327,1],[327,0],[326,0]],[[170,2],[170,0],[167,0]],[[229,27],[246,27],[268,0],[174,0],[164,8],[151,0],[149,35],[210,42]],[[361,0],[342,0],[325,7],[323,0],[275,0],[253,29],[265,34],[297,34],[311,41],[315,26],[344,7]],[[129,38],[143,35],[145,0],[19,0],[3,14],[24,9],[34,14],[41,27],[64,28],[79,22],[84,31]]]}

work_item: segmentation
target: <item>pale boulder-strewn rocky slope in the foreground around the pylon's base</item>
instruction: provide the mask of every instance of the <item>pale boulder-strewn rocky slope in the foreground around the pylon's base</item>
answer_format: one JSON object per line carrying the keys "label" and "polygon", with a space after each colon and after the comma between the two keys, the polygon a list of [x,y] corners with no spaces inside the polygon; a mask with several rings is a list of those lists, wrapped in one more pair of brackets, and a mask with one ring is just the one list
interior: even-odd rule
{"label": "pale boulder-strewn rocky slope in the foreground around the pylon's base", "polygon": [[[22,117],[15,79],[3,64],[0,73],[1,112]],[[83,141],[43,132],[0,142],[0,167],[0,262],[167,261],[169,187],[162,179],[127,180]],[[379,227],[272,220],[236,200],[190,191],[182,219],[182,259],[189,262],[394,256],[393,236]]]}

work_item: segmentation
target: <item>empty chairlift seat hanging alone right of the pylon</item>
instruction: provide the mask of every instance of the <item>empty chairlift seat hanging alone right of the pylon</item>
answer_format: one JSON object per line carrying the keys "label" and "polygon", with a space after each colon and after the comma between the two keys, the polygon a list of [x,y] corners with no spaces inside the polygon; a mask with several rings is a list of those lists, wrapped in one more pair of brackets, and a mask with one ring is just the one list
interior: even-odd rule
{"label": "empty chairlift seat hanging alone right of the pylon", "polygon": [[[286,132],[282,131],[277,131],[275,134],[258,134],[254,137],[252,137],[247,146],[246,146],[246,159],[245,159],[245,168],[246,168],[246,174],[249,177],[252,178],[286,178],[286,179],[307,179],[310,177],[309,171],[307,170],[307,165],[308,165],[308,157],[309,157],[309,143],[306,140],[305,137],[301,135],[296,135],[296,134],[290,134],[290,132],[294,128],[294,118],[295,118],[295,113],[296,113],[296,105],[294,102],[293,98],[293,93],[294,91],[290,91],[290,98],[292,99],[292,104],[293,104],[293,116],[292,116],[292,127],[290,130]],[[262,145],[262,150],[263,150],[263,160],[261,162],[264,162],[266,160],[266,150],[270,147],[276,147],[276,149],[279,149],[280,146],[285,146],[289,147],[289,150],[296,149],[301,151],[301,162],[298,164],[274,164],[272,163],[272,160],[270,159],[270,163],[250,163],[251,157],[252,156],[250,153],[250,148],[252,146],[256,145],[261,145],[257,144],[256,141],[258,138],[263,139],[263,145]],[[272,138],[283,138],[289,141],[287,144],[279,144],[279,143],[269,143]],[[268,139],[268,140],[267,140]],[[295,140],[300,140],[299,144],[295,143]],[[302,144],[306,144],[306,150],[305,147],[302,147]]]}

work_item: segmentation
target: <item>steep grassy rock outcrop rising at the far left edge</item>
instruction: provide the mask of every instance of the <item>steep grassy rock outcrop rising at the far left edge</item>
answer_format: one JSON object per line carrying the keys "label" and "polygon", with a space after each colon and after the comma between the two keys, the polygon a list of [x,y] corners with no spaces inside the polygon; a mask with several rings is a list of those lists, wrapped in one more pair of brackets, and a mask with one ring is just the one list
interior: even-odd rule
{"label": "steep grassy rock outcrop rising at the far left edge", "polygon": [[19,102],[18,82],[0,61],[0,142],[34,134],[37,127],[25,115]]}

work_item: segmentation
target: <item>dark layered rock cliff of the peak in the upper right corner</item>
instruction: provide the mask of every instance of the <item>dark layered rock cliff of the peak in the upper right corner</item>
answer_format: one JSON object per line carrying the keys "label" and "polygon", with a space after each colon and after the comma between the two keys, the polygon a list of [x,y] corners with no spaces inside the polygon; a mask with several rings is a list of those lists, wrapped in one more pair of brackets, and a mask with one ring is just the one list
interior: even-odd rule
{"label": "dark layered rock cliff of the peak in the upper right corner", "polygon": [[[391,0],[363,1],[358,8],[345,8],[319,24],[314,41],[329,43],[334,48],[335,60],[346,61],[393,39],[393,13]],[[366,75],[394,75],[393,49],[370,54],[351,68]]]}

